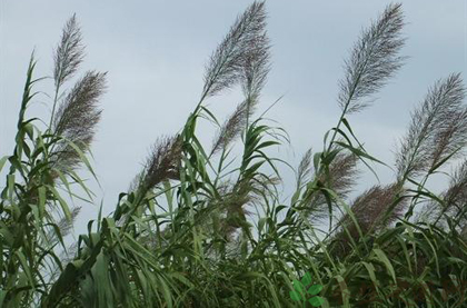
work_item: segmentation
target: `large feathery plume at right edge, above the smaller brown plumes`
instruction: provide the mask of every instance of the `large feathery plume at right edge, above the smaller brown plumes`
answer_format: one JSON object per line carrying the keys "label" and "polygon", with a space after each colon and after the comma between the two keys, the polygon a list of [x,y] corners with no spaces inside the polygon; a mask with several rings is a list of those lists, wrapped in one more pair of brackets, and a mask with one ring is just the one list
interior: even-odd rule
{"label": "large feathery plume at right edge, above the smaller brown plumes", "polygon": [[467,145],[466,89],[460,74],[439,80],[413,112],[396,158],[399,178],[417,177],[445,159],[455,158]]}

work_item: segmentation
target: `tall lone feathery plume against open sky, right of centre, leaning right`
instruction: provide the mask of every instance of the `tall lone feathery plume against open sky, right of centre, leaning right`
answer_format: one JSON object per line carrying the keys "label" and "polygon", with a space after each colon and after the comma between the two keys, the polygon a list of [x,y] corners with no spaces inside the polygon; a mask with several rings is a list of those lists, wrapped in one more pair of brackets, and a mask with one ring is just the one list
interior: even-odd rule
{"label": "tall lone feathery plume against open sky, right of centre, leaning right", "polygon": [[361,99],[376,93],[403,66],[398,53],[404,46],[401,4],[390,4],[379,19],[365,30],[345,62],[338,101],[351,113],[366,107]]}

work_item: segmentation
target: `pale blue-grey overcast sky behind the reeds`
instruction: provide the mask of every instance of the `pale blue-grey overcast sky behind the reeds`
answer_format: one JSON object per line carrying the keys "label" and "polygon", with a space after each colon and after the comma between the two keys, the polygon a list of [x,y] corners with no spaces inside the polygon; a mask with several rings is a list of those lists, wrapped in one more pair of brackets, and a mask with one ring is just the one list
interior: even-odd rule
{"label": "pale blue-grey overcast sky behind the reeds", "polygon": [[[26,69],[32,49],[39,60],[36,77],[50,76],[52,50],[61,28],[74,12],[81,24],[87,58],[82,71],[108,71],[101,100],[102,121],[92,147],[93,166],[105,212],[141,168],[150,145],[177,132],[202,88],[205,63],[247,0],[63,1],[0,0],[0,156],[12,151]],[[272,41],[272,71],[260,110],[285,95],[269,113],[290,135],[291,147],[277,155],[297,165],[307,148],[320,150],[322,135],[338,117],[337,81],[342,61],[362,27],[388,1],[267,1]],[[450,72],[467,79],[467,1],[410,0],[403,8],[408,24],[404,54],[410,59],[369,109],[350,122],[367,150],[393,163],[395,145],[409,111],[427,88]],[[37,90],[50,91],[51,80]],[[239,102],[236,91],[210,100],[219,119]],[[40,96],[29,116],[47,118],[51,103]],[[48,118],[47,118],[48,119]],[[201,127],[210,141],[209,127]],[[393,179],[377,168],[381,181]],[[291,177],[290,175],[288,177]],[[364,176],[369,187],[375,179]],[[86,206],[77,230],[85,231],[97,207]]]}

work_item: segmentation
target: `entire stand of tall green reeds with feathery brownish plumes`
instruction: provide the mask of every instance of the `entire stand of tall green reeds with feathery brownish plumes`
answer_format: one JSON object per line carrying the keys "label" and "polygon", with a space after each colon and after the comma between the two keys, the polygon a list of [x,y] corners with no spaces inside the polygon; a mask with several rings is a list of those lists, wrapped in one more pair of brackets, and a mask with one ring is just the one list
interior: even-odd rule
{"label": "entire stand of tall green reeds with feathery brownish plumes", "polygon": [[[322,307],[465,305],[460,76],[437,81],[411,113],[394,182],[349,200],[358,168],[381,162],[365,150],[348,116],[362,111],[405,61],[401,6],[388,6],[345,62],[341,115],[322,151],[305,153],[295,193],[284,198],[278,167],[288,163],[269,152],[287,135],[255,116],[270,69],[265,19],[264,2],[238,17],[206,67],[185,127],[158,139],[115,211],[89,221],[88,234],[71,247],[63,240],[79,212],[71,199],[93,196],[77,171],[86,167],[93,175],[87,157],[106,73],[87,72],[64,88],[83,60],[73,17],[56,50],[53,108],[42,132],[26,113],[41,80],[33,78],[31,59],[16,148],[0,159],[0,168],[10,168],[0,202],[1,307],[305,307],[289,294],[306,272],[322,286]],[[237,86],[244,100],[220,123],[206,101]],[[210,146],[197,138],[199,120],[218,127]],[[446,167],[456,163],[449,173]],[[436,173],[449,179],[438,193],[426,186]]]}

